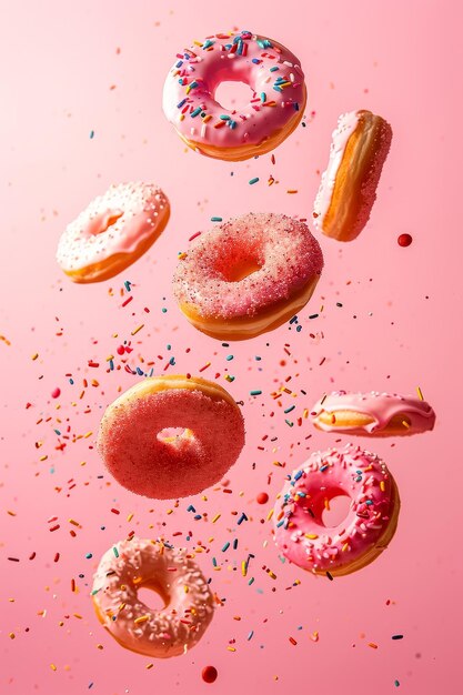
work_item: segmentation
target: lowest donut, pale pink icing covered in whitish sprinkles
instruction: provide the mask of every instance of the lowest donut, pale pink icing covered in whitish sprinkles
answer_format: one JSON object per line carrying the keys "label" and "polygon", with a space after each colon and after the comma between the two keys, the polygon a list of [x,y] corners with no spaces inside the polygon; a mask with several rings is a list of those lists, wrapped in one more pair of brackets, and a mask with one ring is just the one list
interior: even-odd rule
{"label": "lowest donut, pale pink icing covered in whitish sprinkles", "polygon": [[[140,601],[142,587],[159,594],[164,607],[154,611]],[[93,576],[92,603],[121,646],[154,658],[191,649],[214,610],[208,582],[185,552],[137,537],[104,553]]]}

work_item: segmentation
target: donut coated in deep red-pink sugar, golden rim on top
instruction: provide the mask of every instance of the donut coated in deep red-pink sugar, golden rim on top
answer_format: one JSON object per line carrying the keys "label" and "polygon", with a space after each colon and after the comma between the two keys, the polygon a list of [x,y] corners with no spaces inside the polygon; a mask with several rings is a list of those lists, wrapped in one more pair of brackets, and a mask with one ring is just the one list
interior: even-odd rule
{"label": "donut coated in deep red-pink sugar, golden rim on top", "polygon": [[157,500],[215,484],[243,445],[244,421],[231,395],[189,375],[148,377],[125,391],[107,407],[97,443],[121,485]]}

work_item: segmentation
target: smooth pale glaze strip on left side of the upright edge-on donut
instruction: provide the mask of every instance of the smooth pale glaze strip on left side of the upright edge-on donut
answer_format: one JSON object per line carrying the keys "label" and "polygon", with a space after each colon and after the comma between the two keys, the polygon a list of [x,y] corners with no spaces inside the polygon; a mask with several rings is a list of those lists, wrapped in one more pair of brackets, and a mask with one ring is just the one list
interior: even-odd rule
{"label": "smooth pale glaze strip on left side of the upright edge-on donut", "polygon": [[323,220],[331,205],[338,170],[344,157],[349,139],[359,125],[360,111],[343,113],[338,119],[338,127],[332,133],[330,159],[326,170],[322,173],[319,192],[313,205],[314,225],[323,231]]}

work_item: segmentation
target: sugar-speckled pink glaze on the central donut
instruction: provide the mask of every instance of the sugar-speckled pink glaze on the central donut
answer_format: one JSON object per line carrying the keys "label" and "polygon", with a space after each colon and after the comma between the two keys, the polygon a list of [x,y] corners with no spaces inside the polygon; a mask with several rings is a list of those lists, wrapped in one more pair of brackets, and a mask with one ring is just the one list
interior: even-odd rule
{"label": "sugar-speckled pink glaze on the central donut", "polygon": [[[246,261],[259,270],[230,281],[233,268]],[[177,266],[173,292],[202,316],[254,316],[316,281],[322,268],[322,251],[306,224],[283,214],[249,213],[194,240]]]}

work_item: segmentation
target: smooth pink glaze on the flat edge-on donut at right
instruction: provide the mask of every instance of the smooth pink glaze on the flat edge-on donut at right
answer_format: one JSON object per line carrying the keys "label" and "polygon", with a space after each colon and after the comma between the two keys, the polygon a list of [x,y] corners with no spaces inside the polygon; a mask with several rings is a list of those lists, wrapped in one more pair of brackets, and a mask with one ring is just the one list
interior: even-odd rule
{"label": "smooth pink glaze on the flat edge-on donut at right", "polygon": [[[323,412],[335,414],[339,411],[362,413],[373,419],[373,422],[362,427],[342,427],[336,422],[326,425],[319,415]],[[324,395],[312,407],[311,420],[320,430],[325,432],[349,432],[349,434],[381,434],[396,415],[404,415],[410,426],[404,434],[416,434],[432,430],[435,423],[435,413],[431,405],[414,396],[403,396],[396,393],[348,393],[334,391]]]}

